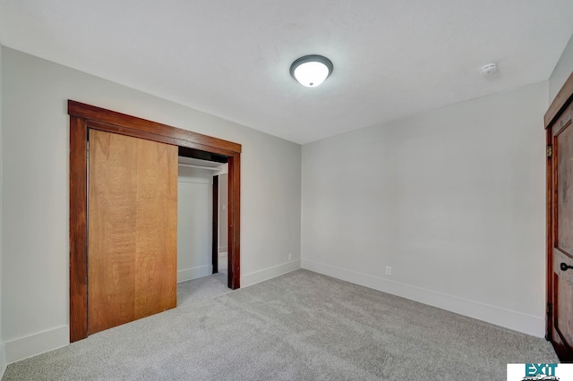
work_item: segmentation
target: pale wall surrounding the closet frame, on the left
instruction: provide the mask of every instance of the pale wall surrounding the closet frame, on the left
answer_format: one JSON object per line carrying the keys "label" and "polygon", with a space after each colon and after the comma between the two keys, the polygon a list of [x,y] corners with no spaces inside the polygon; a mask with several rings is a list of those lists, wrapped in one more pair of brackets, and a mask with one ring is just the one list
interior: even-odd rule
{"label": "pale wall surrounding the closet frame, on the left", "polygon": [[300,266],[299,145],[10,48],[2,60],[8,362],[69,343],[69,98],[242,144],[242,285]]}

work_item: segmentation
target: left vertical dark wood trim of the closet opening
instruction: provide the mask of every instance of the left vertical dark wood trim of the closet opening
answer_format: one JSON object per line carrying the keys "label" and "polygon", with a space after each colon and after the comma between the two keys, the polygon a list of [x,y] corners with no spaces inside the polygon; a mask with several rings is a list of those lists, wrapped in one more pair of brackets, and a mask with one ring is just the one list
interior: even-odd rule
{"label": "left vertical dark wood trim of the closet opening", "polygon": [[70,116],[70,341],[88,333],[88,128]]}

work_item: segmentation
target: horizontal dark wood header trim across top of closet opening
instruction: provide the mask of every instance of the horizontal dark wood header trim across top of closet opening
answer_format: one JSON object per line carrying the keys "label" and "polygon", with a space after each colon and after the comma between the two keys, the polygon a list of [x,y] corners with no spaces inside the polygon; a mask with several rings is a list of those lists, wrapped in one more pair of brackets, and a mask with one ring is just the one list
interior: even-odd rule
{"label": "horizontal dark wood header trim across top of closet opening", "polygon": [[[201,133],[178,129],[167,124],[141,119],[132,115],[121,114],[96,106],[86,105],[73,100],[68,101],[68,114],[92,119],[101,123],[116,124],[133,130],[148,131],[172,139],[201,144],[205,147],[220,148],[231,152],[241,152],[241,145],[232,141],[221,140]],[[210,151],[211,152],[211,151]]]}

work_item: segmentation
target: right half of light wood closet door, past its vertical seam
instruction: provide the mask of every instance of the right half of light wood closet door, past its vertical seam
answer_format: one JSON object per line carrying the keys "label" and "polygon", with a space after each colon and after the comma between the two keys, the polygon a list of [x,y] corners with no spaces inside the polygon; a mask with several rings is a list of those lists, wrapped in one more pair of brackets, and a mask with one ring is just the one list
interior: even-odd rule
{"label": "right half of light wood closet door, past its vertical seam", "polygon": [[141,139],[138,148],[135,318],[145,318],[176,306],[177,148]]}

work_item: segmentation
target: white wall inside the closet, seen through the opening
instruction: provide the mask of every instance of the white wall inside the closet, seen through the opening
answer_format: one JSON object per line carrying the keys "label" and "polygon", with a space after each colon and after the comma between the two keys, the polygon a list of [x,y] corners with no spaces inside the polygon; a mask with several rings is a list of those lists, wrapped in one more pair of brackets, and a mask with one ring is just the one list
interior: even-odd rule
{"label": "white wall inside the closet, seen through the opening", "polygon": [[177,282],[213,274],[213,171],[179,166]]}

